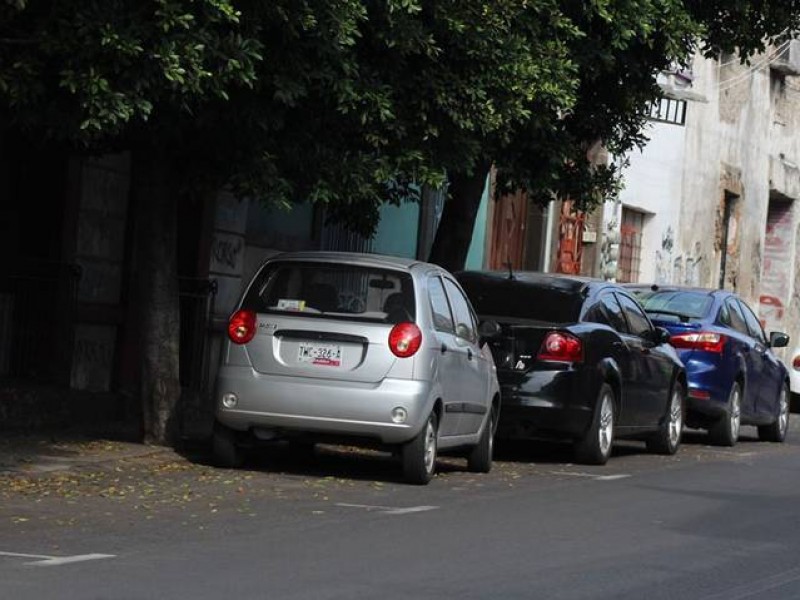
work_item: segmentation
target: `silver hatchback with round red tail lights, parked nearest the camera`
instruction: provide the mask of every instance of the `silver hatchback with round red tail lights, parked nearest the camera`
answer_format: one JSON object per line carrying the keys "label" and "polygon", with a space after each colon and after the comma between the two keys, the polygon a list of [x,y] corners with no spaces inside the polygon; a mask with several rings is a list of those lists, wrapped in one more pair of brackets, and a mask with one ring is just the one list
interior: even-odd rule
{"label": "silver hatchback with round red tail lights, parked nearest the camera", "polygon": [[287,439],[400,450],[430,481],[439,450],[488,472],[500,392],[485,338],[456,280],[432,264],[302,252],[265,262],[228,324],[216,386],[214,457]]}

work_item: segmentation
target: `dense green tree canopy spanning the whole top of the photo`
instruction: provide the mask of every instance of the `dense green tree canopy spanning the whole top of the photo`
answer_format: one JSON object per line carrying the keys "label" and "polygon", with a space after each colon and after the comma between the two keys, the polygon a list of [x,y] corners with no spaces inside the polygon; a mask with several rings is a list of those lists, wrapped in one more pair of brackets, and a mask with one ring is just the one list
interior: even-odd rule
{"label": "dense green tree canopy spanning the whole top of the photo", "polygon": [[659,70],[798,21],[800,0],[2,0],[0,126],[160,146],[184,186],[366,233],[412,182],[492,163],[590,206],[619,173],[587,153],[643,143]]}

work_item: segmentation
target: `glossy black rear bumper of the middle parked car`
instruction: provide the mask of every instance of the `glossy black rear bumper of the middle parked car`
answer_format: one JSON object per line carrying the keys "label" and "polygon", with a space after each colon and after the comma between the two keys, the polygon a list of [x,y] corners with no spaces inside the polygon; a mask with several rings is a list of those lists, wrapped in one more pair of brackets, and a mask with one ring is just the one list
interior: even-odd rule
{"label": "glossy black rear bumper of the middle parked car", "polygon": [[532,371],[504,377],[497,437],[580,437],[592,420],[594,395],[575,371]]}

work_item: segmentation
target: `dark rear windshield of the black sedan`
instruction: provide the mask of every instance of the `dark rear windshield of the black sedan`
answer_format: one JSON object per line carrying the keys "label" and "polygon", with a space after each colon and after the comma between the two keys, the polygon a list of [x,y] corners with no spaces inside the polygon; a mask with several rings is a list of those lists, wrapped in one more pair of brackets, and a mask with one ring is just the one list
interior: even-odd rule
{"label": "dark rear windshield of the black sedan", "polygon": [[460,280],[475,311],[483,318],[539,321],[542,323],[576,323],[583,303],[573,285],[569,289],[558,283],[538,286],[514,280]]}

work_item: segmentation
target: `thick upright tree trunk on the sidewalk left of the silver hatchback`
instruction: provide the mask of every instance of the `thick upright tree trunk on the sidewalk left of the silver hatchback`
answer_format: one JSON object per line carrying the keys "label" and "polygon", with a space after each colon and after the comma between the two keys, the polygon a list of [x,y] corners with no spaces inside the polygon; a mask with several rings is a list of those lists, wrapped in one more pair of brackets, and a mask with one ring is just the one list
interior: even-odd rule
{"label": "thick upright tree trunk on the sidewalk left of the silver hatchback", "polygon": [[168,157],[157,148],[134,151],[132,176],[144,441],[172,445],[178,438],[180,398],[178,198],[171,185]]}

